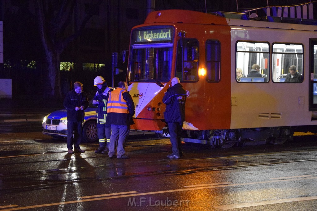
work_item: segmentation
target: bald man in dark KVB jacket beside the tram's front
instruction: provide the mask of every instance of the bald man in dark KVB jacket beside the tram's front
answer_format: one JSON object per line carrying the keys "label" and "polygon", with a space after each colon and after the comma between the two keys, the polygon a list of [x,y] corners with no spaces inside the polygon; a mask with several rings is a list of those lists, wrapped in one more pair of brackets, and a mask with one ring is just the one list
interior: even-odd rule
{"label": "bald man in dark KVB jacket beside the tram's front", "polygon": [[167,155],[168,158],[180,158],[183,155],[180,136],[182,134],[183,122],[185,120],[185,102],[186,91],[179,83],[177,77],[171,80],[172,87],[167,90],[163,97],[166,104],[164,112],[165,121],[168,123],[168,129],[171,135],[171,144],[173,153]]}

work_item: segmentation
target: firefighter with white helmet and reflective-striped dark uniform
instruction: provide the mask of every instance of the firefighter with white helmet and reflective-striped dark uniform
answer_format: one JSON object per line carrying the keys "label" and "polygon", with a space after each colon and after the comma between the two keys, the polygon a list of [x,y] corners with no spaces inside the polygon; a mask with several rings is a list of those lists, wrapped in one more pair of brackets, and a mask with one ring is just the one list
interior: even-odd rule
{"label": "firefighter with white helmet and reflective-striped dark uniform", "polygon": [[108,87],[106,80],[97,76],[94,79],[94,86],[97,87],[97,92],[94,96],[93,105],[98,106],[97,109],[97,128],[98,128],[98,139],[99,139],[99,147],[95,150],[95,153],[107,153],[108,145],[110,142],[111,136],[111,128],[110,125],[106,124],[107,117],[107,100],[109,96],[109,92],[113,90],[113,88]]}

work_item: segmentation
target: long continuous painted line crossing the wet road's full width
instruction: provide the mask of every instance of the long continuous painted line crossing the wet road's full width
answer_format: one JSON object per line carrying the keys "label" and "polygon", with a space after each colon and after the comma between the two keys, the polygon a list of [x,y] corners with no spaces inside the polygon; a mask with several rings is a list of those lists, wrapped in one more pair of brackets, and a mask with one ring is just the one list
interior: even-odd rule
{"label": "long continuous painted line crossing the wet road's full width", "polygon": [[[9,208],[9,209],[3,209],[1,211],[11,211],[11,210],[30,209],[30,208],[42,208],[42,207],[49,207],[49,206],[55,206],[55,205],[61,205],[61,204],[72,204],[72,203],[78,203],[78,202],[91,202],[91,201],[115,199],[115,198],[129,197],[129,196],[131,197],[131,196],[139,196],[139,195],[172,193],[172,192],[180,192],[180,191],[188,191],[188,190],[211,189],[211,188],[219,188],[219,187],[232,187],[232,186],[241,186],[241,185],[249,185],[249,184],[275,183],[275,182],[296,181],[296,180],[306,180],[306,179],[317,179],[317,177],[294,178],[294,179],[285,179],[285,180],[268,180],[268,181],[262,181],[262,182],[238,183],[238,184],[217,185],[217,186],[204,186],[204,187],[196,187],[196,188],[162,190],[162,191],[147,192],[147,193],[138,193],[137,192],[136,194],[115,195],[115,196],[100,197],[100,198],[74,200],[74,201],[68,201],[68,202],[57,202],[57,203],[50,203],[50,204],[39,204],[39,205],[32,205],[32,206],[26,206],[26,207]],[[312,196],[312,197],[317,198],[317,196]],[[311,197],[305,197],[305,198],[311,198]],[[306,199],[306,200],[310,200],[310,199]]]}

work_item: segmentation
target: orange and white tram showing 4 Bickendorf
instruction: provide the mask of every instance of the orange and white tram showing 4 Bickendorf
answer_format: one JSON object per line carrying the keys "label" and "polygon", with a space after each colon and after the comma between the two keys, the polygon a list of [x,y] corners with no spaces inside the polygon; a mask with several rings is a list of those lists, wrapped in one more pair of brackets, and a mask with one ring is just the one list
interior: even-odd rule
{"label": "orange and white tram showing 4 Bickendorf", "polygon": [[[162,10],[133,27],[127,70],[132,129],[168,135],[162,98],[178,77],[187,92],[185,142],[225,148],[317,133],[317,21],[251,19]],[[254,64],[262,77],[248,77]],[[300,82],[285,82],[292,65]]]}

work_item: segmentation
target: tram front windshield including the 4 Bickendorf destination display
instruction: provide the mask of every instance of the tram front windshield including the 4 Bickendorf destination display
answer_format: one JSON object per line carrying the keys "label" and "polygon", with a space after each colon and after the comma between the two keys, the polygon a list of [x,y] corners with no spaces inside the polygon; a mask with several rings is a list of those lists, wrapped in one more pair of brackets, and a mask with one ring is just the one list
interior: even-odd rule
{"label": "tram front windshield including the 4 Bickendorf destination display", "polygon": [[171,76],[174,28],[138,28],[132,32],[128,80],[167,82]]}

